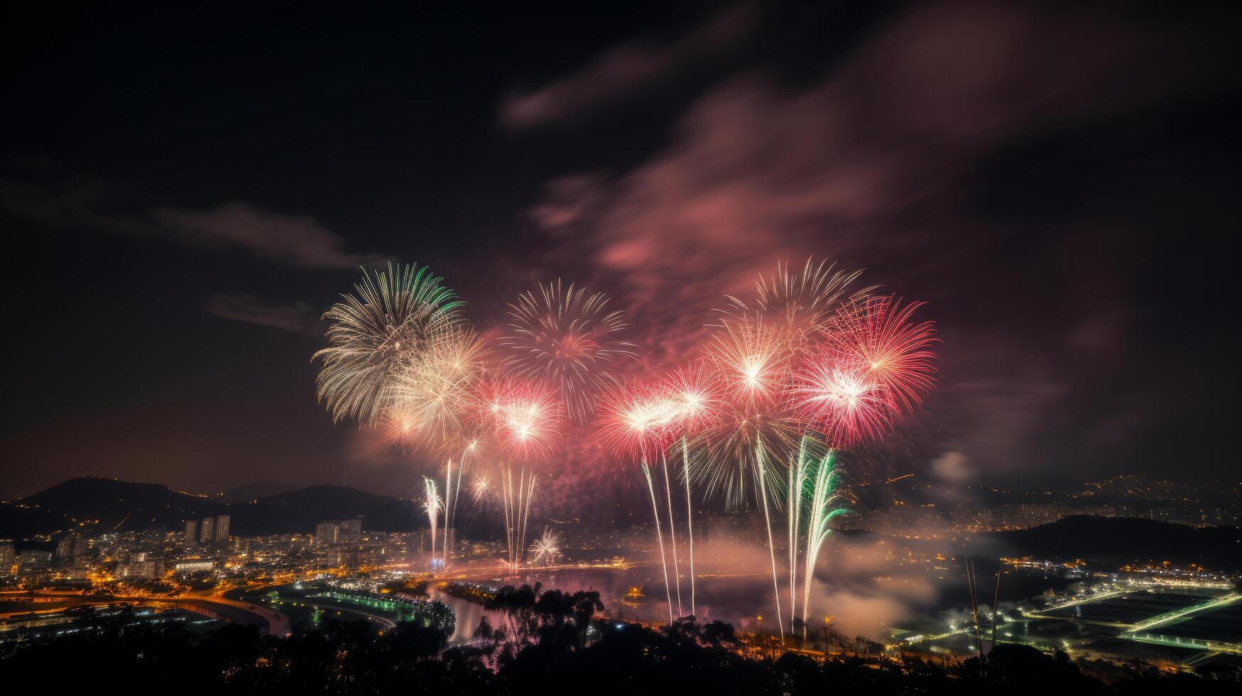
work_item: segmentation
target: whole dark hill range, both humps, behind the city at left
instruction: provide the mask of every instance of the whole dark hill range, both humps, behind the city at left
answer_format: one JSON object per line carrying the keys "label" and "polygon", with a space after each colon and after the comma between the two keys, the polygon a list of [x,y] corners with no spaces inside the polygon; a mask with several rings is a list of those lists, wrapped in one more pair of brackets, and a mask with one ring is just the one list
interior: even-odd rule
{"label": "whole dark hill range, both humps, behind the city at left", "polygon": [[[248,497],[243,486],[231,505],[174,491],[159,483],[112,478],[72,478],[19,501],[0,503],[0,538],[26,538],[66,529],[102,533],[120,529],[180,529],[185,520],[232,516],[235,536],[310,533],[324,520],[363,518],[363,528],[404,532],[426,524],[417,503],[342,486],[312,486]],[[224,497],[224,496],[221,496]],[[79,524],[86,522],[86,524]],[[122,523],[123,522],[123,523]]]}

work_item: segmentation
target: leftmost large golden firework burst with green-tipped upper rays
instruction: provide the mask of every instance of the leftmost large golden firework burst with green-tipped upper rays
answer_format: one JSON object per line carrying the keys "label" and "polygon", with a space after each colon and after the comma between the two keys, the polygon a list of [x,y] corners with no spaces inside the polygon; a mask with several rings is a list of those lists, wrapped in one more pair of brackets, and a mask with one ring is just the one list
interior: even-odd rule
{"label": "leftmost large golden firework burst with green-tipped upper rays", "polygon": [[402,363],[436,344],[460,319],[461,302],[426,267],[389,265],[363,272],[353,295],[323,316],[328,347],[319,359],[318,398],[333,420],[375,423]]}

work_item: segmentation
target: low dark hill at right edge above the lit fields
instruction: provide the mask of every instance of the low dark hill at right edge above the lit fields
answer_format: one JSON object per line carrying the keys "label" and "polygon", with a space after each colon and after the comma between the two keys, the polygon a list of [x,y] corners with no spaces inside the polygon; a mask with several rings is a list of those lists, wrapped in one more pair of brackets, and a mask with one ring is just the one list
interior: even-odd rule
{"label": "low dark hill at right edge above the lit fields", "polygon": [[1236,527],[1187,527],[1154,520],[1074,516],[1031,529],[985,534],[986,542],[1013,556],[1105,564],[1130,562],[1211,570],[1242,570],[1242,532]]}

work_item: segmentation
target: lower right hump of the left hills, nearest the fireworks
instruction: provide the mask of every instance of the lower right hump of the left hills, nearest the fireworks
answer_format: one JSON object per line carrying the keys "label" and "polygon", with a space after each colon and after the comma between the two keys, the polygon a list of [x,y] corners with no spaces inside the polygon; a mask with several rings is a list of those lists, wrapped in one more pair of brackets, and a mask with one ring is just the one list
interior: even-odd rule
{"label": "lower right hump of the left hills, nearest the fireworks", "polygon": [[407,532],[425,524],[417,503],[343,486],[312,486],[229,506],[240,536],[313,532],[324,520],[363,518],[363,529]]}

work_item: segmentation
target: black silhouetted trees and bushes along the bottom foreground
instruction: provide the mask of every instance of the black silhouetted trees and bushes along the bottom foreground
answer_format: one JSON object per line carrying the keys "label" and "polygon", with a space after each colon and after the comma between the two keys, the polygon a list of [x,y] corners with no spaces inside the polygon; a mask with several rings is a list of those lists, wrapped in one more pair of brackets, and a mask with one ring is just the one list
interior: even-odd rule
{"label": "black silhouetted trees and bushes along the bottom foreground", "polygon": [[[909,657],[764,656],[730,625],[692,619],[655,630],[599,618],[596,593],[504,588],[476,640],[405,621],[296,621],[287,639],[226,625],[195,634],[101,615],[91,629],[0,648],[6,694],[120,689],[165,694],[1235,694],[1235,670],[1126,670],[1104,684],[1063,654],[1001,645],[986,662]],[[1191,691],[1192,690],[1192,691]]]}

